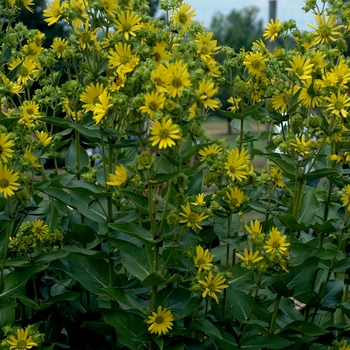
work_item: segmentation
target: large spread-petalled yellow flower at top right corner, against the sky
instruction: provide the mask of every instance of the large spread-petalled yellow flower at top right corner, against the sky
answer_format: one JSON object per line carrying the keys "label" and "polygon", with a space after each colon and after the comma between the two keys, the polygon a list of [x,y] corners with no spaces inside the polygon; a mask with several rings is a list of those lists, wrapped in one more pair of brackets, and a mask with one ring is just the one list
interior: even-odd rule
{"label": "large spread-petalled yellow flower at top right corner, against the sky", "polygon": [[329,15],[326,18],[324,13],[314,15],[315,21],[318,24],[318,27],[313,24],[307,24],[310,28],[314,29],[313,33],[315,36],[315,40],[313,41],[314,45],[328,43],[331,41],[336,41],[336,36],[342,36],[342,33],[339,32],[339,29],[344,28],[345,26],[340,24],[334,27],[335,22],[337,21],[337,17],[334,15]]}

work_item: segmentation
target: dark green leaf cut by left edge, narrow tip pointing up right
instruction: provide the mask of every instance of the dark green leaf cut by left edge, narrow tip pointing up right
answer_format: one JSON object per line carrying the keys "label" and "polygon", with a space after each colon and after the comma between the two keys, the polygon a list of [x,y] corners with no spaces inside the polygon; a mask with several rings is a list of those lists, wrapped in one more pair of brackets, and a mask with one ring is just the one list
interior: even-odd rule
{"label": "dark green leaf cut by left edge, narrow tip pointing up right", "polygon": [[33,265],[10,272],[3,279],[0,299],[18,298],[24,295],[27,281],[48,266],[48,264]]}

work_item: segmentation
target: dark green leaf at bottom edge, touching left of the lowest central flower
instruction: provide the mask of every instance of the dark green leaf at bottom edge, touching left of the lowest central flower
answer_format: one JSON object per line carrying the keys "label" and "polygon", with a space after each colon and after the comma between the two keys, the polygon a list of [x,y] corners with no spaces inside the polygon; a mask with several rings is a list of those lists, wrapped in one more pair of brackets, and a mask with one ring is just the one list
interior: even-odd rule
{"label": "dark green leaf at bottom edge, touching left of the lowest central flower", "polygon": [[147,333],[144,316],[123,310],[104,310],[104,320],[114,326],[118,341],[132,350],[139,350],[140,343],[135,339]]}

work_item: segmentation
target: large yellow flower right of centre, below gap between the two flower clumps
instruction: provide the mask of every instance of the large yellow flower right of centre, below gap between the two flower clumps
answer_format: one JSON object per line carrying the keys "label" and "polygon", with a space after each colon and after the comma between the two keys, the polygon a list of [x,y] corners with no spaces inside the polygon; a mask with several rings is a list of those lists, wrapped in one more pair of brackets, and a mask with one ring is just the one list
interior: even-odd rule
{"label": "large yellow flower right of centre, below gap between the two flower clumps", "polygon": [[232,181],[242,182],[252,173],[252,169],[247,164],[249,162],[250,155],[247,150],[241,152],[238,149],[231,150],[225,162],[227,175],[231,177]]}

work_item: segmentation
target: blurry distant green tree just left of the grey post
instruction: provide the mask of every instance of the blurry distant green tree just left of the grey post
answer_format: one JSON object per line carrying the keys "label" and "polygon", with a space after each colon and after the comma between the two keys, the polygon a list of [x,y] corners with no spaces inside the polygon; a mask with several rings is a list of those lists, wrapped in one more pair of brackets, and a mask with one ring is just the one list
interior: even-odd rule
{"label": "blurry distant green tree just left of the grey post", "polygon": [[261,38],[263,21],[258,19],[259,9],[251,6],[240,11],[232,10],[228,15],[216,13],[210,30],[219,45],[227,45],[239,51],[250,50],[252,42]]}

